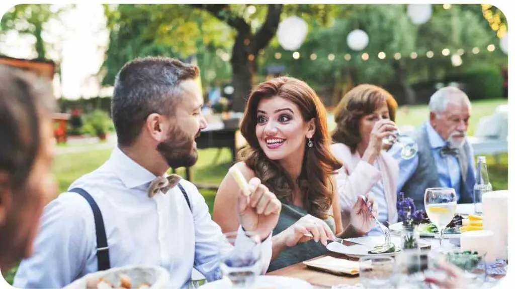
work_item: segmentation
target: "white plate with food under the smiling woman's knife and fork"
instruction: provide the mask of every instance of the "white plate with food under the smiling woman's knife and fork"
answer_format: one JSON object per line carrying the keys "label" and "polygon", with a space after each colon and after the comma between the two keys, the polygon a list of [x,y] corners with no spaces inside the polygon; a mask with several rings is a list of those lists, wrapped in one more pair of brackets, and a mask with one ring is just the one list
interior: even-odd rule
{"label": "white plate with food under the smiling woman's knife and fork", "polygon": [[[346,246],[344,244],[340,244],[338,242],[331,242],[327,245],[327,249],[339,254],[344,254],[349,257],[363,257],[363,256],[396,256],[401,251],[392,252],[392,253],[384,253],[384,254],[369,254],[368,251],[372,250],[375,246],[383,245],[385,239],[383,236],[371,236],[371,237],[359,237],[359,238],[349,238],[345,239],[345,241],[356,243],[356,245]],[[401,239],[396,236],[391,236],[391,242],[395,244],[397,247],[401,245]]]}

